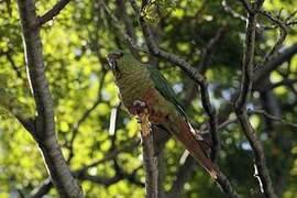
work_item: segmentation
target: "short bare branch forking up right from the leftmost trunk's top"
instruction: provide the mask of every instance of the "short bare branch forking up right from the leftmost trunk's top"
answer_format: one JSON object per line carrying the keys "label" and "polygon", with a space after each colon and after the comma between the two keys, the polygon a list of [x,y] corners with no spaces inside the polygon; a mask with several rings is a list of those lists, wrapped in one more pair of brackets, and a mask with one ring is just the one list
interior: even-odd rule
{"label": "short bare branch forking up right from the leftmost trunk's top", "polygon": [[55,16],[59,14],[59,12],[70,2],[70,0],[59,0],[56,4],[48,10],[45,14],[38,18],[40,25],[53,20]]}

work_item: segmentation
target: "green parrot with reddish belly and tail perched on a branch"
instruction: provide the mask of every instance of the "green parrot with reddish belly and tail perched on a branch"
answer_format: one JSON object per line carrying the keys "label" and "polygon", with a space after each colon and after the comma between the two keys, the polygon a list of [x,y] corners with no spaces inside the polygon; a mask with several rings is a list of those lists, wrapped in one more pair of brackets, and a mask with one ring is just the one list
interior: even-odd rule
{"label": "green parrot with reddish belly and tail perched on a branch", "polygon": [[175,92],[163,75],[123,51],[110,53],[108,62],[119,88],[119,97],[129,113],[139,117],[141,108],[147,109],[150,123],[173,134],[216,179],[218,167],[202,148]]}

